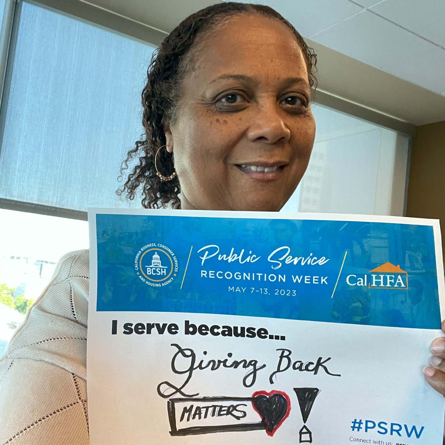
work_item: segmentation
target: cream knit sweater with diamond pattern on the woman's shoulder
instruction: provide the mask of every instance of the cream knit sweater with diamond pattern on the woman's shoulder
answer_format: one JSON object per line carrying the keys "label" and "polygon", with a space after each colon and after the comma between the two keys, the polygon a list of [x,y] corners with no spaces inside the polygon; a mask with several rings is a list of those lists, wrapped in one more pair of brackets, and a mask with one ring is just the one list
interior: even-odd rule
{"label": "cream knit sweater with diamond pattern on the woman's shoulder", "polygon": [[0,359],[0,444],[88,445],[89,252],[71,252]]}

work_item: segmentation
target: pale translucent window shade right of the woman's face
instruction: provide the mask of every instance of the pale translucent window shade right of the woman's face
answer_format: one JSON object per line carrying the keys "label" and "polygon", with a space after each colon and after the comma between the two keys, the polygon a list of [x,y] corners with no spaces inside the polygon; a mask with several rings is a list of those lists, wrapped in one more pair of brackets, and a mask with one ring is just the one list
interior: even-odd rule
{"label": "pale translucent window shade right of the woman's face", "polygon": [[409,138],[321,105],[312,111],[311,160],[283,210],[402,216]]}

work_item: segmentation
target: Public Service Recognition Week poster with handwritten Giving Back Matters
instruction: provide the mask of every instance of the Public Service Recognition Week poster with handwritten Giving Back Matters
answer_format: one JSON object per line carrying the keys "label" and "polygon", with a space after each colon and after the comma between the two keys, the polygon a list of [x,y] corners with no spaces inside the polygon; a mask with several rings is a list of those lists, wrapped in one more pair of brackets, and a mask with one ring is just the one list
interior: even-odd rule
{"label": "Public Service Recognition Week poster with handwritten Giving Back Matters", "polygon": [[[92,445],[440,445],[438,221],[90,209]],[[442,310],[442,317],[441,317]]]}

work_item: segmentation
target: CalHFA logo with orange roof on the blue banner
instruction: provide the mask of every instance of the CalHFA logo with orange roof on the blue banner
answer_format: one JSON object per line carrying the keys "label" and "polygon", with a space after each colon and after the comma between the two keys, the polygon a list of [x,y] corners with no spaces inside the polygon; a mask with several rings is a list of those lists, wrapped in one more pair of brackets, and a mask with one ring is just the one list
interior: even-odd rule
{"label": "CalHFA logo with orange roof on the blue banner", "polygon": [[392,263],[384,263],[366,275],[348,275],[349,286],[368,286],[369,289],[408,289],[408,274]]}

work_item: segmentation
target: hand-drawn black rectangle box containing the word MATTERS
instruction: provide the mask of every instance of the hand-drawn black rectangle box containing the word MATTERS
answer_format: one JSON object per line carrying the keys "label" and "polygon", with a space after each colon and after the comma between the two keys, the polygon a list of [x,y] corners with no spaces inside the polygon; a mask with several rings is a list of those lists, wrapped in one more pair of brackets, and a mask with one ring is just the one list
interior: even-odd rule
{"label": "hand-drawn black rectangle box containing the word MATTERS", "polygon": [[[171,436],[188,436],[192,434],[222,433],[225,431],[254,431],[266,429],[263,420],[252,406],[251,397],[189,397],[167,401]],[[234,407],[242,406],[241,411]],[[177,410],[181,407],[182,410]],[[230,411],[230,410],[233,411]],[[177,412],[178,411],[178,412]],[[244,412],[240,415],[240,413]],[[232,414],[231,414],[232,413]],[[179,418],[177,417],[179,416]],[[198,421],[195,418],[198,417]],[[245,419],[244,421],[242,421]],[[253,421],[258,419],[258,421]],[[193,420],[194,426],[180,428],[182,421]],[[196,423],[204,425],[196,425]],[[214,424],[214,425],[209,425]],[[215,425],[216,424],[216,425]]]}

